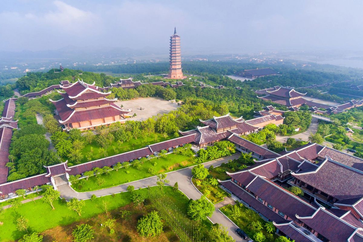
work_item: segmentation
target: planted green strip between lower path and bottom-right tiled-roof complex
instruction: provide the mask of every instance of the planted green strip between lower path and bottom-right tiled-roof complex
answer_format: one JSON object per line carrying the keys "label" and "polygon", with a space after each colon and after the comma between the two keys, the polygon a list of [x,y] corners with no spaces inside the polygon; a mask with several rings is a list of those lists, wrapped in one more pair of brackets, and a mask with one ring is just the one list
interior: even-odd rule
{"label": "planted green strip between lower path and bottom-right tiled-roof complex", "polygon": [[[242,204],[241,204],[242,205]],[[252,222],[261,222],[262,226],[265,225],[266,221],[263,220],[256,212],[254,212],[252,209],[247,208],[246,206],[242,205],[239,206],[238,204],[235,205],[238,206],[238,209],[241,212],[241,216],[238,216],[237,218],[233,218],[232,216],[232,205],[228,204],[227,206],[224,206],[220,210],[222,213],[224,213],[229,219],[231,219],[238,227],[240,227],[243,231],[248,234],[248,237],[253,238],[253,235],[256,232],[260,231],[251,231],[248,228],[248,225]],[[262,233],[266,236],[268,232],[266,231],[265,227],[262,229]],[[271,235],[270,235],[271,236]],[[274,238],[277,238],[276,234],[273,234]],[[268,239],[266,241],[269,241]]]}

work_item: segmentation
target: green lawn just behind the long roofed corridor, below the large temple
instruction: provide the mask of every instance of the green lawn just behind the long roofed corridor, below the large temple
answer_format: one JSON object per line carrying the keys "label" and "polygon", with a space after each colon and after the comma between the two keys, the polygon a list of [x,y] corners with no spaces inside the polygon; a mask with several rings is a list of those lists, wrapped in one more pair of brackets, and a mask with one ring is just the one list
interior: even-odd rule
{"label": "green lawn just behind the long roofed corridor, below the large temple", "polygon": [[[112,141],[111,145],[106,147],[107,156],[113,156],[113,155],[121,154],[124,152],[133,151],[135,149],[144,148],[144,147],[146,147],[146,145],[155,144],[155,143],[173,139],[173,138],[174,138],[174,136],[164,137],[160,133],[154,133],[154,134],[151,134],[150,137],[149,136],[138,137],[138,139],[132,138],[132,139],[130,139],[130,141],[123,142],[120,146],[118,146],[117,142],[114,140],[114,141]],[[92,148],[92,152],[91,152],[91,148]],[[99,152],[99,148],[100,148],[100,146],[97,144],[97,141],[95,141],[95,140],[92,141],[91,144],[87,144],[85,146],[85,148],[83,148],[83,150],[82,150],[83,159],[81,160],[80,163],[85,163],[85,162],[90,161],[90,160],[87,160],[87,157],[86,157],[86,155],[88,155],[88,154],[92,154],[91,160],[97,160],[97,159],[101,159],[103,157],[107,157],[104,154],[101,154]],[[67,160],[67,158],[63,158],[63,159]],[[75,165],[75,164],[73,164],[72,162],[69,161],[68,166],[72,166],[72,165]]]}

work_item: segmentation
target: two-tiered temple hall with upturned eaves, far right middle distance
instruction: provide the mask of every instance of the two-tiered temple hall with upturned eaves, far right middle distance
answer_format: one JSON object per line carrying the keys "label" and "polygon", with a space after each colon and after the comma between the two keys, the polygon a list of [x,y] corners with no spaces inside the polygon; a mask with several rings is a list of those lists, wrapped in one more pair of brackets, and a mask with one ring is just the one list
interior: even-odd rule
{"label": "two-tiered temple hall with upturned eaves, far right middle distance", "polygon": [[306,93],[299,93],[293,87],[274,86],[268,89],[257,90],[255,93],[263,95],[258,97],[265,101],[271,101],[286,107],[300,107],[307,102],[302,98]]}

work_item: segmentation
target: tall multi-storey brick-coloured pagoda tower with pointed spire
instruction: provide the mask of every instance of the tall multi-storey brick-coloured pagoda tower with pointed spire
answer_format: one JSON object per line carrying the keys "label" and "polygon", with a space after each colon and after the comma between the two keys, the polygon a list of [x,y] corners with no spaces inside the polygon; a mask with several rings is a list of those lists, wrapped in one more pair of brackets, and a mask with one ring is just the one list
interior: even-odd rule
{"label": "tall multi-storey brick-coloured pagoda tower with pointed spire", "polygon": [[174,34],[170,36],[170,67],[167,78],[185,78],[183,76],[183,72],[181,71],[180,36],[176,34],[176,28],[174,28]]}

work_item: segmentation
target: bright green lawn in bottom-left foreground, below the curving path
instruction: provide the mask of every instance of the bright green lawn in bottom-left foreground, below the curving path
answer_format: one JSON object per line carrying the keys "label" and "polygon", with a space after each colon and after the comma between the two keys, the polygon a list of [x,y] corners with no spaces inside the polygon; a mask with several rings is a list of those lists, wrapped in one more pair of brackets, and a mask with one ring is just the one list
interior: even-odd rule
{"label": "bright green lawn in bottom-left foreground, below the curving path", "polygon": [[[156,186],[151,187],[150,189],[155,190],[155,192],[161,192]],[[138,192],[148,193],[147,189],[142,189]],[[174,192],[171,187],[164,187],[163,192],[185,213],[189,200],[184,194],[181,192]],[[130,197],[131,195],[129,192],[124,192],[100,197],[94,201],[86,200],[86,205],[83,207],[81,217],[79,217],[76,212],[69,210],[65,202],[62,202],[61,200],[54,202],[55,210],[52,210],[52,207],[42,200],[36,200],[35,203],[28,202],[20,205],[16,209],[6,209],[1,216],[1,222],[4,222],[4,224],[0,227],[0,241],[14,241],[25,234],[16,229],[16,219],[20,216],[24,216],[29,220],[30,231],[42,232],[57,225],[68,225],[75,221],[90,218],[105,212],[105,209],[102,206],[103,201],[108,202],[107,210],[125,206],[131,202]]]}

